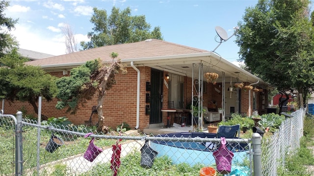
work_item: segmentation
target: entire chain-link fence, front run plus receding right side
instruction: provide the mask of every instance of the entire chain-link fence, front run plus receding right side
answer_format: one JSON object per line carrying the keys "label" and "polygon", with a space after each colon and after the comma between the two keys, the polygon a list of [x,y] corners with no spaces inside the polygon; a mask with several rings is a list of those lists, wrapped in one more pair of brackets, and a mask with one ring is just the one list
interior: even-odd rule
{"label": "entire chain-link fence, front run plus receding right side", "polygon": [[[230,172],[230,165],[231,175],[250,176],[253,168],[254,172],[261,168],[261,160],[263,175],[272,176],[283,164],[283,155],[299,147],[304,113],[305,110],[294,112],[294,117],[288,118],[281,126],[280,130],[285,131],[262,140],[262,159],[261,150],[254,146],[254,143],[261,144],[259,135],[257,139],[260,141],[252,143],[256,133],[252,140],[226,139],[228,150],[224,153],[218,150],[222,146],[221,139],[212,133],[153,136],[128,131],[103,134],[84,125],[41,125],[35,120],[23,119],[23,148],[19,149],[23,149],[23,168],[17,161],[19,159],[14,161],[18,148],[14,147],[17,143],[14,140],[16,122],[7,120],[10,115],[0,115],[1,139],[2,133],[7,135],[3,136],[5,144],[1,142],[0,145],[8,146],[0,148],[0,162],[5,163],[0,166],[0,176],[19,175],[22,170],[23,176],[200,176],[204,167],[219,169],[223,174],[224,171]],[[297,131],[291,131],[295,129]],[[10,157],[4,157],[5,154]],[[219,161],[219,154],[232,155],[232,160],[225,157]],[[20,168],[15,167],[14,170],[14,163]]]}

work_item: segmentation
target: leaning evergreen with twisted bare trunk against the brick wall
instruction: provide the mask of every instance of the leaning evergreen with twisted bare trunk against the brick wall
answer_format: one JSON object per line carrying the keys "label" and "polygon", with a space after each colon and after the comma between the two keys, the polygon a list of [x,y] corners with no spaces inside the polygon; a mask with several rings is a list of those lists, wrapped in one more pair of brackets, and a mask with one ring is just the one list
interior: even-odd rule
{"label": "leaning evergreen with twisted bare trunk against the brick wall", "polygon": [[[76,113],[79,106],[84,106],[86,100],[93,98],[97,93],[98,131],[105,131],[105,117],[103,116],[103,104],[106,90],[116,84],[115,74],[122,71],[127,73],[127,69],[121,64],[117,53],[112,52],[110,57],[112,63],[102,64],[100,59],[86,62],[85,65],[71,69],[70,76],[62,77],[56,81],[60,100],[56,104],[57,109],[67,108],[67,112]],[[104,127],[104,128],[103,128]]]}

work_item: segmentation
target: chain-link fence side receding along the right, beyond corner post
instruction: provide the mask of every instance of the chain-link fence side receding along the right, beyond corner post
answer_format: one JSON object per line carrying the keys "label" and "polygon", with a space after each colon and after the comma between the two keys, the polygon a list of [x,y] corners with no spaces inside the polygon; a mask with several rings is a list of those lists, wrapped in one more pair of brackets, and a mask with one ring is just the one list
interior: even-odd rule
{"label": "chain-link fence side receding along the right, beyond corner post", "polygon": [[294,154],[300,148],[305,108],[292,112],[290,116],[286,116],[277,132],[262,140],[263,176],[277,176],[277,169],[285,165],[286,156]]}

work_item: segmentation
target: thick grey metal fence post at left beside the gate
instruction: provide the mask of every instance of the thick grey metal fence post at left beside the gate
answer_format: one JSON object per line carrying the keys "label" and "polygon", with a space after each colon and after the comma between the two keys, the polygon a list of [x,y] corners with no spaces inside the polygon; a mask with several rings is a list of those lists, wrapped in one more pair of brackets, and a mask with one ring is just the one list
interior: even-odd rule
{"label": "thick grey metal fence post at left beside the gate", "polygon": [[16,113],[17,124],[15,128],[15,175],[22,176],[23,171],[23,146],[22,146],[22,112]]}

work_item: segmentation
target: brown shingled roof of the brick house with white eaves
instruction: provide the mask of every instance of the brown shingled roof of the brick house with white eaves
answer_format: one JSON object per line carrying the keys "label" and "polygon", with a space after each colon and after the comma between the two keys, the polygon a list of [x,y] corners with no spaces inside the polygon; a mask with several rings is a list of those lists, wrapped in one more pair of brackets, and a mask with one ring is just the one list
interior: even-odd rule
{"label": "brown shingled roof of the brick house with white eaves", "polygon": [[[230,82],[230,79],[239,78],[239,82],[256,83],[266,85],[260,78],[235,66],[214,52],[174,44],[157,39],[146,41],[107,45],[103,47],[83,50],[75,53],[54,56],[50,58],[27,62],[28,65],[41,66],[47,71],[61,71],[83,65],[87,61],[100,58],[104,62],[110,62],[110,53],[118,53],[118,59],[127,66],[150,66],[159,70],[192,77],[196,75],[193,63],[202,63],[202,71],[217,72],[217,82]],[[198,70],[197,70],[198,72]],[[221,73],[225,73],[225,80]],[[197,77],[197,76],[196,76]]]}

